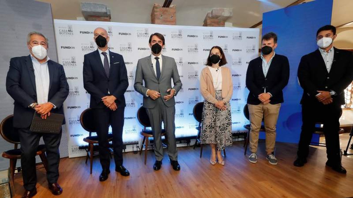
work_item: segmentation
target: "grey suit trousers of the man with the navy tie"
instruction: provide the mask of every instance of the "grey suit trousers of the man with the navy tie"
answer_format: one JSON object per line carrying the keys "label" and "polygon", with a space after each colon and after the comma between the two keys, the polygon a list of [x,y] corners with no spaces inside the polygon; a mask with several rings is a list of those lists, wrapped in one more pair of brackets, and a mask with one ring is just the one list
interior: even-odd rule
{"label": "grey suit trousers of the man with the navy tie", "polygon": [[153,130],[156,160],[162,161],[163,159],[162,121],[166,130],[168,155],[171,160],[178,160],[177,144],[175,143],[175,106],[167,107],[162,100],[161,97],[156,99],[156,106],[146,109]]}

